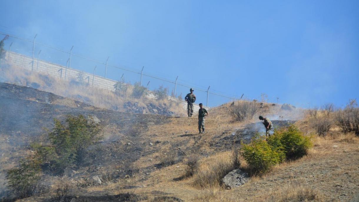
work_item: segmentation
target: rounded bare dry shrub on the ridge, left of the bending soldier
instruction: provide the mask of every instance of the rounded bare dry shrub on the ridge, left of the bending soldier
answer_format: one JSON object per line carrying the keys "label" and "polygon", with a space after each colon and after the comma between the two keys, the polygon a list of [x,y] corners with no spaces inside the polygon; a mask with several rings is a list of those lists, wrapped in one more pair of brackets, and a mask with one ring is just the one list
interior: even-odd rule
{"label": "rounded bare dry shrub on the ridge, left of the bending soldier", "polygon": [[230,106],[230,112],[237,121],[252,119],[257,114],[258,106],[255,102],[239,101]]}

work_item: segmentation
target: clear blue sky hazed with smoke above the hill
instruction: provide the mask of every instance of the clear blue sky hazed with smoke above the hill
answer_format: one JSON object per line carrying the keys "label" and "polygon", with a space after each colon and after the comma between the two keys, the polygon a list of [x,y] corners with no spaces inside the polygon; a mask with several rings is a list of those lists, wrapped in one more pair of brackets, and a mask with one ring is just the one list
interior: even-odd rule
{"label": "clear blue sky hazed with smoke above the hill", "polygon": [[[225,95],[300,107],[359,98],[359,1],[1,1],[0,31]],[[31,43],[10,39],[31,54]],[[45,47],[42,59],[66,64]],[[96,64],[73,59],[92,72]],[[104,66],[97,67],[104,75]],[[109,68],[108,77],[139,81]],[[144,77],[150,89],[173,84]],[[177,94],[188,89],[178,87]],[[198,102],[206,93],[195,91]],[[230,101],[211,95],[209,105]]]}

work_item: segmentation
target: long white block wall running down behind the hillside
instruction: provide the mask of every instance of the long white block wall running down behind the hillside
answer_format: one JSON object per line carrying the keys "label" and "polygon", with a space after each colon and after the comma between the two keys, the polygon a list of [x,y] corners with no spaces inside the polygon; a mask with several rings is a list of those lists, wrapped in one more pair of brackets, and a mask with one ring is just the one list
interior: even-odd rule
{"label": "long white block wall running down behind the hillside", "polygon": [[[37,71],[42,74],[47,74],[53,77],[61,77],[62,79],[65,79],[65,73],[66,73],[66,81],[71,81],[73,79],[76,79],[78,77],[78,74],[81,72],[76,69],[72,68],[66,68],[65,66],[61,66],[58,64],[50,63],[47,61],[39,60],[37,62],[37,59],[34,59],[34,62],[31,57],[24,56],[17,54],[15,52],[6,52],[6,59],[8,59],[8,63],[10,65],[18,66],[27,70],[33,70]],[[62,69],[62,70],[61,70]],[[62,74],[61,74],[62,71]],[[97,75],[89,74],[86,72],[83,72],[85,81],[88,82],[90,85],[94,85],[98,88],[108,89],[111,91],[114,91],[113,85],[117,83],[117,81],[107,79],[104,77],[100,77]],[[149,98],[155,98],[154,92],[149,91],[148,93]],[[169,100],[178,100],[177,98],[168,96]],[[183,108],[187,109],[187,102],[184,100],[182,101]],[[206,107],[209,109],[209,107]],[[197,104],[194,104],[194,111],[198,111],[199,106]]]}

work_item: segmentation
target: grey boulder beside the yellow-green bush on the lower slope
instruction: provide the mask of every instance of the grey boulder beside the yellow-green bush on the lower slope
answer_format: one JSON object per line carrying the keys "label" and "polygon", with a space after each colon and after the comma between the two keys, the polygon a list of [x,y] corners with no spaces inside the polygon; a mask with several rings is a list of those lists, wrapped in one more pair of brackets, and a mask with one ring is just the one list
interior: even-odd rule
{"label": "grey boulder beside the yellow-green bush on the lower slope", "polygon": [[244,173],[242,170],[236,169],[230,171],[224,178],[222,179],[223,184],[226,188],[233,189],[239,187],[247,182],[249,176],[247,173]]}

